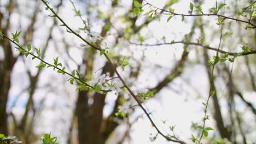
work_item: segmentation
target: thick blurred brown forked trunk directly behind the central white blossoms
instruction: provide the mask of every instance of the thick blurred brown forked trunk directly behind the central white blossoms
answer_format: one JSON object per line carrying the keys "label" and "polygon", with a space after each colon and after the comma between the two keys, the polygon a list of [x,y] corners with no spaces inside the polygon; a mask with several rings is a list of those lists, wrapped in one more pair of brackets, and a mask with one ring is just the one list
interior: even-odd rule
{"label": "thick blurred brown forked trunk directly behind the central white blossoms", "polygon": [[[110,30],[109,20],[105,20],[105,25],[102,27],[101,37],[105,37],[107,32]],[[96,43],[100,45],[102,40],[98,40]],[[87,49],[83,63],[86,65],[85,70],[85,79],[90,80],[92,75],[92,67],[94,62],[96,51],[90,47]],[[108,64],[103,68],[103,71],[108,68]],[[106,72],[106,71],[104,71]],[[112,74],[112,72],[111,72]],[[95,104],[92,107],[92,115],[89,114],[88,106],[88,94],[89,91],[79,92],[78,101],[77,101],[77,117],[78,117],[78,139],[79,143],[95,143],[96,140],[100,137],[100,128],[102,121],[102,110],[104,106],[104,97],[106,94],[95,93],[94,102]],[[95,109],[95,110],[94,110]],[[100,119],[98,119],[100,118]],[[89,121],[92,119],[92,121]],[[89,122],[92,122],[89,124]],[[89,127],[94,125],[95,127]],[[87,131],[94,131],[88,135]]]}

